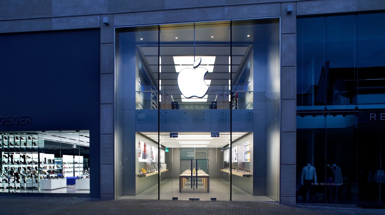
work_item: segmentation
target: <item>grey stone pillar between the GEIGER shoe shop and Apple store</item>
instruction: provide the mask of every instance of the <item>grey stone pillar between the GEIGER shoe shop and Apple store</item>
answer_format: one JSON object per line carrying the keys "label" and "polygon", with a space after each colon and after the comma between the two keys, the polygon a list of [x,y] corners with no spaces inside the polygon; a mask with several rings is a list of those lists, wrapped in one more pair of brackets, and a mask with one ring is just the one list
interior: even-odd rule
{"label": "grey stone pillar between the GEIGER shoe shop and Apple store", "polygon": [[[109,24],[103,23],[108,17]],[[115,198],[114,15],[100,16],[100,198]]]}

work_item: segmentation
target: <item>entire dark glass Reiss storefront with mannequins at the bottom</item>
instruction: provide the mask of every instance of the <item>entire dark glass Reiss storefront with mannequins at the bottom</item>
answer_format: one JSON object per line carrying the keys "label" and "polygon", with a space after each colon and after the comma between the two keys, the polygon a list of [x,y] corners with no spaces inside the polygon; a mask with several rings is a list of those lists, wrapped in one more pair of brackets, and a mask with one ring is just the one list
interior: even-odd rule
{"label": "entire dark glass Reiss storefront with mannequins at the bottom", "polygon": [[384,20],[297,19],[297,203],[385,204]]}

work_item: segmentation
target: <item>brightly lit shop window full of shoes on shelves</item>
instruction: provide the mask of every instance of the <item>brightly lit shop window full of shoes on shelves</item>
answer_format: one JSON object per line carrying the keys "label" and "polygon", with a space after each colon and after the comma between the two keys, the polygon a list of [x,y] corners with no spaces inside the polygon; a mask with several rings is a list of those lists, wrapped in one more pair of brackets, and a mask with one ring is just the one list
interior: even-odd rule
{"label": "brightly lit shop window full of shoes on shelves", "polygon": [[0,192],[89,197],[89,131],[0,135]]}

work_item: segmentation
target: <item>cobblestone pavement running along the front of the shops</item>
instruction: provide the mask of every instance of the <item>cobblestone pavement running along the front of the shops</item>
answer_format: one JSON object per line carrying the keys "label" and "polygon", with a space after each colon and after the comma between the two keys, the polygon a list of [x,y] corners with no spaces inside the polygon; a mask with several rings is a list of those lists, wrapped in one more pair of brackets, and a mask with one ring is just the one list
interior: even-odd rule
{"label": "cobblestone pavement running along the front of the shops", "polygon": [[226,202],[183,200],[95,200],[86,198],[0,197],[0,214],[385,214],[385,209],[330,208],[306,205],[281,205],[271,202]]}

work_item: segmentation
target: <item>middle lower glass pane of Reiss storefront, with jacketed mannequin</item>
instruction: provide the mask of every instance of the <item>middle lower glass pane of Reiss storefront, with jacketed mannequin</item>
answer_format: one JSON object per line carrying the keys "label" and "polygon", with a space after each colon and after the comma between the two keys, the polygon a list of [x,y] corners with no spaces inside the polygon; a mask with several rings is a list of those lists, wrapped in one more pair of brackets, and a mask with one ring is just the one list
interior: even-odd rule
{"label": "middle lower glass pane of Reiss storefront, with jacketed mannequin", "polygon": [[[317,174],[320,184],[316,186],[315,193],[319,201],[325,196],[323,203],[356,204],[356,144],[357,115],[335,114],[326,117],[326,165],[325,171]],[[321,196],[321,193],[325,195]]]}

